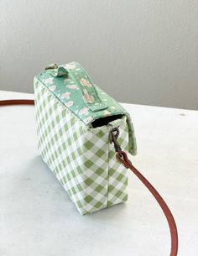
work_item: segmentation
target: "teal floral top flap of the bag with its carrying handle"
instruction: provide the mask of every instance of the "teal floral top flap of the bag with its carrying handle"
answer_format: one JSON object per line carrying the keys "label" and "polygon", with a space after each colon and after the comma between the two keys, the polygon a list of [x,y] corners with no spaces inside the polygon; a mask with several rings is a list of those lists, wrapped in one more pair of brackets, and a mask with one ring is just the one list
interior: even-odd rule
{"label": "teal floral top flap of the bag with its carrying handle", "polygon": [[131,154],[137,153],[133,123],[129,113],[96,86],[79,63],[73,61],[65,65],[50,65],[36,78],[89,127],[93,127],[92,123],[99,118],[126,115],[128,151]]}

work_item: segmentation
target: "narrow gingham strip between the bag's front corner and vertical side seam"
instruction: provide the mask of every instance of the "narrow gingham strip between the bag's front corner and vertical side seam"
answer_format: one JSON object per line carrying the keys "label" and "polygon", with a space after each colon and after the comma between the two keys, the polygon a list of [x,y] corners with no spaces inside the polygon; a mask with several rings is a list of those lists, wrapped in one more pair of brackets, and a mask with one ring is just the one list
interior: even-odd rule
{"label": "narrow gingham strip between the bag's front corner and vertical side seam", "polygon": [[90,129],[84,144],[86,165],[86,211],[96,212],[107,207],[108,194],[108,128]]}

